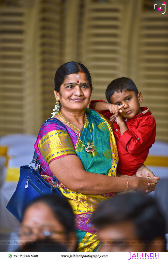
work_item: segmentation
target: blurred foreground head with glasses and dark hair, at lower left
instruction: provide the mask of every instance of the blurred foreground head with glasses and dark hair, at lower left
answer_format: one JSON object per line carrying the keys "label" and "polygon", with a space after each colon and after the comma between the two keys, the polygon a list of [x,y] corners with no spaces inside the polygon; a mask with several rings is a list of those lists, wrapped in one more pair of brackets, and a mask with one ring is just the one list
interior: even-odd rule
{"label": "blurred foreground head with glasses and dark hair, at lower left", "polygon": [[35,199],[27,207],[22,219],[21,240],[36,241],[46,237],[67,241],[69,251],[76,249],[74,215],[65,198],[56,195]]}

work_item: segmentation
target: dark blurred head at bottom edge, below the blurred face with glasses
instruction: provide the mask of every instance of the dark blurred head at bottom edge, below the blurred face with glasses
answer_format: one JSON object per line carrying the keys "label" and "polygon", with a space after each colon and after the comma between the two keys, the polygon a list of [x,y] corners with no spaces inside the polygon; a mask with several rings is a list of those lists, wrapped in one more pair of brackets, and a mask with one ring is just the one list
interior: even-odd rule
{"label": "dark blurred head at bottom edge, below the blurred face with glasses", "polygon": [[66,252],[67,248],[57,243],[56,241],[46,239],[46,240],[37,240],[33,243],[28,243],[23,245],[20,252]]}

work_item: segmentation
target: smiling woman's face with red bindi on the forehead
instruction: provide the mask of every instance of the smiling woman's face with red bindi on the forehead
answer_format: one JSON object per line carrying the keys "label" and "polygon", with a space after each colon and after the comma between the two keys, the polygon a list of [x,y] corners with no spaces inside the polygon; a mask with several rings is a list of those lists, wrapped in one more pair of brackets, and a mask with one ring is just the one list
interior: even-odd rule
{"label": "smiling woman's face with red bindi on the forehead", "polygon": [[83,110],[89,104],[91,86],[85,73],[73,73],[65,77],[60,92],[54,93],[60,100],[62,110]]}

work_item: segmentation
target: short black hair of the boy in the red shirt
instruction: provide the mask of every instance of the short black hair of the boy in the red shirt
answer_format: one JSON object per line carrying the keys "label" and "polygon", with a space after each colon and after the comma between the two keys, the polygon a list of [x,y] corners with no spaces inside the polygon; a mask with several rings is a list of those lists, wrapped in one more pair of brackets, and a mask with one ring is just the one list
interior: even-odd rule
{"label": "short black hair of the boy in the red shirt", "polygon": [[138,89],[132,79],[127,77],[121,77],[113,80],[106,89],[106,99],[108,103],[111,103],[110,98],[114,94],[115,91],[122,92],[123,91],[134,91],[136,97],[138,96]]}

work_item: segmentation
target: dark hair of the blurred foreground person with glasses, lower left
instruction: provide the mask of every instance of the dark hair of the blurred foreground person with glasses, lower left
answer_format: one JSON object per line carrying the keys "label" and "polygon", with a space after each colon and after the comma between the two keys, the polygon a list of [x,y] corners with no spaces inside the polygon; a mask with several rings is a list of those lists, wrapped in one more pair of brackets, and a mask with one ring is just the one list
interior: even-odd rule
{"label": "dark hair of the blurred foreground person with glasses, lower left", "polygon": [[73,211],[65,198],[60,198],[56,195],[39,197],[33,200],[33,202],[31,202],[25,210],[27,210],[30,206],[41,202],[47,204],[50,207],[55,218],[64,226],[67,235],[70,232],[74,232],[75,228]]}

